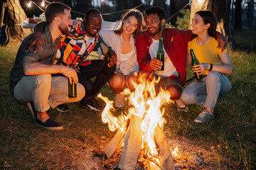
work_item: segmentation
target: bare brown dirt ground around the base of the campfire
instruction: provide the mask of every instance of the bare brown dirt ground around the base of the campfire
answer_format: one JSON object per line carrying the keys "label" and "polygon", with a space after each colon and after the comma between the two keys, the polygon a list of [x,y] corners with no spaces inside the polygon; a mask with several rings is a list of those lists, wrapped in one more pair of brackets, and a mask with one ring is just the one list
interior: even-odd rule
{"label": "bare brown dirt ground around the base of the campfire", "polygon": [[[90,143],[89,141],[70,141],[73,142],[73,146],[60,145],[58,150],[47,152],[41,167],[86,170],[112,169],[114,162],[118,161],[117,157],[120,157],[122,153],[117,153],[110,160],[105,159],[102,151],[110,140],[107,140],[105,136],[102,136],[101,140],[100,145],[86,145],[87,142]],[[218,146],[202,146],[182,138],[167,140],[171,149],[178,146],[178,156],[173,155],[175,169],[234,169],[229,160],[223,160],[216,156],[215,150],[218,149]],[[34,154],[36,150],[31,148],[29,152]],[[5,162],[4,166],[11,168],[8,162]],[[33,164],[24,166],[35,167]],[[139,170],[143,167],[138,163],[134,169]],[[156,166],[151,169],[159,168]]]}

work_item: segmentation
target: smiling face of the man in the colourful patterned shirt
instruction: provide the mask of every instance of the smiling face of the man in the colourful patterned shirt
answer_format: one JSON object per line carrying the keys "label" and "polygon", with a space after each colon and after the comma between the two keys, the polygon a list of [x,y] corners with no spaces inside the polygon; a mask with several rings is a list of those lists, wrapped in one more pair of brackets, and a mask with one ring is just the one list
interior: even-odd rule
{"label": "smiling face of the man in the colourful patterned shirt", "polygon": [[83,21],[85,26],[86,35],[88,37],[95,37],[99,33],[102,25],[102,16],[100,13],[90,13],[90,15]]}

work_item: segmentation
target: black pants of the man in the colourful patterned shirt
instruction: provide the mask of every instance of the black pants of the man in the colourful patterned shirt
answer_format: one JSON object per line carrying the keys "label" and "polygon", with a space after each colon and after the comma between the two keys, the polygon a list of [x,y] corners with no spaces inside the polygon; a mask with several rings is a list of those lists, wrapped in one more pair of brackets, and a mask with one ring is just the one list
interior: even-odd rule
{"label": "black pants of the man in the colourful patterned shirt", "polygon": [[[102,86],[112,77],[116,69],[116,64],[110,67],[110,72],[108,74],[103,74],[103,60],[92,60],[91,64],[80,67],[80,73],[78,72],[78,81],[82,86],[85,87],[85,97],[84,100],[94,98],[97,92],[100,91]],[[95,81],[92,83],[90,79],[96,77]]]}

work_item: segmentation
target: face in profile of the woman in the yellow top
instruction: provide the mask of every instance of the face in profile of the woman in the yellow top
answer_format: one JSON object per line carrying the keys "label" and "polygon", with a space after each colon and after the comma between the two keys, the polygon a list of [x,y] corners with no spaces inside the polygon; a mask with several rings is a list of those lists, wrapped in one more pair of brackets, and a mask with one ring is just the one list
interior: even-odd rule
{"label": "face in profile of the woman in the yellow top", "polygon": [[210,23],[205,24],[203,22],[203,18],[196,13],[196,15],[192,18],[191,26],[192,26],[192,33],[196,35],[200,35],[202,33],[205,33],[205,31],[207,32],[210,26]]}

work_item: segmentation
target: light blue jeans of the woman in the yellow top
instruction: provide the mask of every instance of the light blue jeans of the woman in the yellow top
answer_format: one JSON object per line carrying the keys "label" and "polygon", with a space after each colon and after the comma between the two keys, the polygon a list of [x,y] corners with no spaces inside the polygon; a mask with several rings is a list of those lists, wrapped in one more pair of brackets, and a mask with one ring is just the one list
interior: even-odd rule
{"label": "light blue jeans of the woman in the yellow top", "polygon": [[197,104],[205,108],[214,108],[218,96],[228,94],[230,81],[225,74],[210,71],[203,81],[195,81],[183,90],[181,100],[186,105]]}

